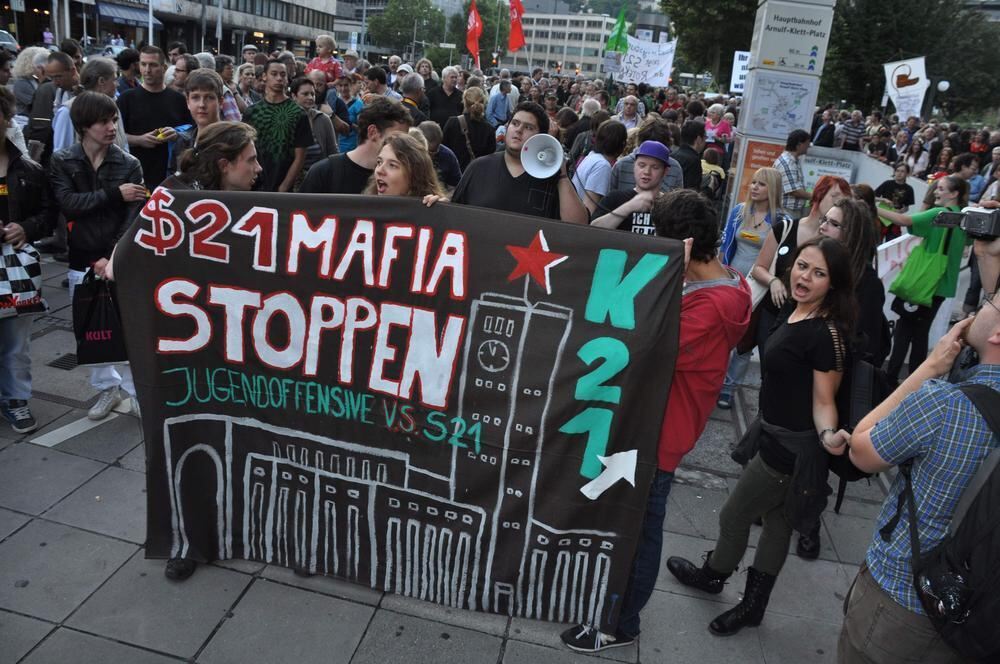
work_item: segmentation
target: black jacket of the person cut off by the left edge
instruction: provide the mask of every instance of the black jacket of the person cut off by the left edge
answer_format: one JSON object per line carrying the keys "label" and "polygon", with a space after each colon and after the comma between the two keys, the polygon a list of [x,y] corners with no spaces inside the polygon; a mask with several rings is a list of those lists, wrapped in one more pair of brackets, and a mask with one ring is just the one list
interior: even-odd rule
{"label": "black jacket of the person cut off by the left edge", "polygon": [[21,154],[7,139],[7,219],[18,224],[28,241],[46,237],[55,227],[56,208],[49,191],[45,169]]}

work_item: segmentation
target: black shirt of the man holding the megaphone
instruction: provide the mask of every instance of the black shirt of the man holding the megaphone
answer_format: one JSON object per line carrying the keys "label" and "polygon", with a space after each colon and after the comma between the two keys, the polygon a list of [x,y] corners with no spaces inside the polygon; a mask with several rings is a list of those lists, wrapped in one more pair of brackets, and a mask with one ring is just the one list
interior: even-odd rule
{"label": "black shirt of the man holding the megaphone", "polygon": [[469,164],[452,202],[559,219],[558,178],[539,180],[527,173],[515,178],[507,170],[504,153],[497,152]]}

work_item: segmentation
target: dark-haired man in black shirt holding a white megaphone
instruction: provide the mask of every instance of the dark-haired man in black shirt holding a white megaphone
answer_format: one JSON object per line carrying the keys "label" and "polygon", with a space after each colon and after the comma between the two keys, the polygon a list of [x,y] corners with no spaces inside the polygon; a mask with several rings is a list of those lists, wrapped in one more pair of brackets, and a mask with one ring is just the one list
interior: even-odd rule
{"label": "dark-haired man in black shirt holding a white megaphone", "polygon": [[504,151],[474,159],[452,202],[586,224],[587,210],[566,175],[562,147],[545,140],[551,138],[548,130],[541,106],[518,104],[507,122]]}

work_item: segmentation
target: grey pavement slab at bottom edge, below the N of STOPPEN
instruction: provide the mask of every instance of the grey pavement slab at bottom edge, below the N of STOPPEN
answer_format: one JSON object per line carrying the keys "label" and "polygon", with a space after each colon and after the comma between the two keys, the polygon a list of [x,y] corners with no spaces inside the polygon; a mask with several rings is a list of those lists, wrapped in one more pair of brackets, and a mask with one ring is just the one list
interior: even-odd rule
{"label": "grey pavement slab at bottom edge, below the N of STOPPEN", "polygon": [[351,664],[496,662],[503,640],[403,613],[375,614]]}

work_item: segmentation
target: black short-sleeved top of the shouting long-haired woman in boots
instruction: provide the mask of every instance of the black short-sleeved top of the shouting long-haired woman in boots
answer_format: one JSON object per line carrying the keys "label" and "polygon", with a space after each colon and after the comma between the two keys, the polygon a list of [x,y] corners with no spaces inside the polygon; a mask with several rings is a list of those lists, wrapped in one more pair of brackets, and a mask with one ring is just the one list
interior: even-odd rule
{"label": "black short-sleeved top of the shouting long-haired woman in boots", "polygon": [[[761,416],[790,431],[814,431],[813,371],[843,371],[845,364],[845,346],[835,345],[826,320],[783,320],[768,337],[761,362]],[[760,454],[775,470],[791,473],[794,455],[768,436]]]}

